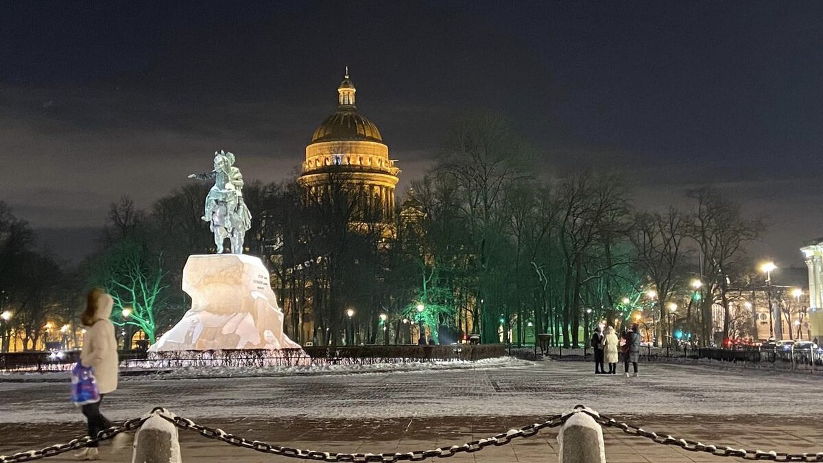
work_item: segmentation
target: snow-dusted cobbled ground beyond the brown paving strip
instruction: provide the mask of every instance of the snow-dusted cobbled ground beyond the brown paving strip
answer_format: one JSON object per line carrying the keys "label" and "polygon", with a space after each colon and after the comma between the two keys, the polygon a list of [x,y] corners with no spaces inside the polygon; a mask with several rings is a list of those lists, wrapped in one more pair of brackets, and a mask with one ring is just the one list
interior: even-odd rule
{"label": "snow-dusted cobbled ground beyond the brown paving strip", "polygon": [[[127,419],[164,406],[212,423],[277,417],[536,417],[578,404],[621,417],[790,417],[800,409],[808,416],[823,413],[819,376],[641,363],[639,378],[625,378],[595,376],[588,362],[497,362],[424,365],[409,371],[375,367],[356,374],[341,374],[346,369],[338,368],[294,375],[269,372],[263,377],[247,377],[248,372],[221,378],[132,377],[105,398],[103,408],[111,419]],[[227,373],[232,372],[221,375]],[[68,386],[68,381],[0,382],[0,423],[77,421]]]}

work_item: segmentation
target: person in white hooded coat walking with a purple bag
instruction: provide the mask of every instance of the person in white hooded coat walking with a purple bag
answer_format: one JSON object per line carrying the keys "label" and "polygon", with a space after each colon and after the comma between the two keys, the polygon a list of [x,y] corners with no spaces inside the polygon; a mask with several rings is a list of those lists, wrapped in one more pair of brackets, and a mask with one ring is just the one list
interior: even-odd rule
{"label": "person in white hooded coat walking with a purple bag", "polygon": [[[86,296],[86,311],[81,321],[86,326],[83,334],[83,350],[80,362],[84,367],[91,367],[100,390],[100,401],[83,405],[83,414],[88,420],[91,437],[109,428],[111,423],[100,413],[103,397],[117,389],[118,364],[117,339],[114,337],[114,325],[109,316],[114,300],[100,288],[92,289]],[[120,434],[118,434],[120,436]],[[97,442],[90,443],[75,457],[77,460],[98,460],[100,458]]]}

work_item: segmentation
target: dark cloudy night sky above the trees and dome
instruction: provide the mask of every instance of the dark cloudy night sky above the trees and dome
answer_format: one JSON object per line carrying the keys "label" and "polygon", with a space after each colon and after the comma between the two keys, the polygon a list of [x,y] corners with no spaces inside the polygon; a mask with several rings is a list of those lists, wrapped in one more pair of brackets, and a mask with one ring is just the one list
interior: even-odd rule
{"label": "dark cloudy night sky above the trees and dome", "polygon": [[618,170],[643,208],[718,185],[780,265],[823,236],[823,2],[17,1],[0,39],[0,200],[72,259],[216,149],[294,175],[346,65],[398,191],[491,111],[546,178]]}

